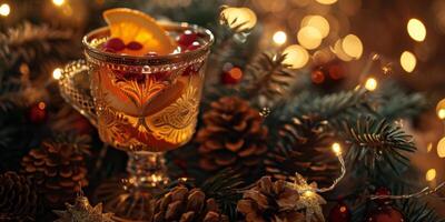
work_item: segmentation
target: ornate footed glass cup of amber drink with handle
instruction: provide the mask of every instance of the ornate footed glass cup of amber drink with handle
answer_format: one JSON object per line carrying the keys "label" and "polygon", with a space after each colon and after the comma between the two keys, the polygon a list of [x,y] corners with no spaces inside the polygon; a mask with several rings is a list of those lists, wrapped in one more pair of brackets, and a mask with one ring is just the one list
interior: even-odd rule
{"label": "ornate footed glass cup of amber drink with handle", "polygon": [[[122,221],[150,216],[144,203],[168,182],[164,152],[184,145],[195,133],[204,64],[214,42],[211,32],[197,26],[162,27],[172,38],[194,31],[201,47],[168,56],[116,54],[98,49],[109,37],[108,28],[100,28],[83,38],[86,62],[67,65],[59,80],[62,97],[98,128],[100,139],[129,155],[123,183],[116,189],[106,184],[98,194],[106,210]],[[76,83],[82,73],[90,90]]]}

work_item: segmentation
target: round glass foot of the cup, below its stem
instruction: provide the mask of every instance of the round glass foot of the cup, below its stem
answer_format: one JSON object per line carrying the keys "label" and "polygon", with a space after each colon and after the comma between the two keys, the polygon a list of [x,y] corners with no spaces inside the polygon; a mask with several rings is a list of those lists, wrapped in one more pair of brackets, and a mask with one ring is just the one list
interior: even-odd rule
{"label": "round glass foot of the cup, below its stem", "polygon": [[116,221],[150,221],[155,208],[154,196],[162,189],[135,188],[127,184],[127,179],[111,179],[98,186],[95,200],[102,202],[105,212],[115,213]]}

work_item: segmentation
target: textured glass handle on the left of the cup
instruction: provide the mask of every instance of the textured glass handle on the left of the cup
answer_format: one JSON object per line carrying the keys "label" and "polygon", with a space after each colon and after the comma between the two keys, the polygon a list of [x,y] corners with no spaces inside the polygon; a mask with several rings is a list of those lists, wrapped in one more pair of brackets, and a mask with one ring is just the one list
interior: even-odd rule
{"label": "textured glass handle on the left of the cup", "polygon": [[63,100],[97,127],[97,114],[95,101],[90,94],[88,72],[89,68],[85,60],[68,63],[59,79],[59,89]]}

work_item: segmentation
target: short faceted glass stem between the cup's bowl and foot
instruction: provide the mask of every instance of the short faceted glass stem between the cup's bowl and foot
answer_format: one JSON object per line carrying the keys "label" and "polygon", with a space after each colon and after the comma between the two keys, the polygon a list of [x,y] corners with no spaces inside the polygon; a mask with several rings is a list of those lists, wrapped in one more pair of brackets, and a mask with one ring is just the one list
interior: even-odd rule
{"label": "short faceted glass stem between the cup's bowl and foot", "polygon": [[169,181],[164,152],[128,152],[127,188],[159,189]]}

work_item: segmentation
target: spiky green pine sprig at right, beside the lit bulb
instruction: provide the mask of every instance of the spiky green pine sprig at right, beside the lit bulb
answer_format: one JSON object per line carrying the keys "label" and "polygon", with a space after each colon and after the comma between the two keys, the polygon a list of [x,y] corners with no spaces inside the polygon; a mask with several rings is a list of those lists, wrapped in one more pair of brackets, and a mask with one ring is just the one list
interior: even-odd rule
{"label": "spiky green pine sprig at right, beside the lit bulb", "polygon": [[416,150],[413,138],[386,120],[362,117],[356,123],[345,123],[344,127],[344,137],[350,143],[346,158],[353,165],[386,172],[383,169],[388,164],[399,174],[400,167],[405,168],[409,163],[404,152]]}

